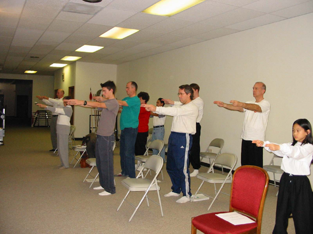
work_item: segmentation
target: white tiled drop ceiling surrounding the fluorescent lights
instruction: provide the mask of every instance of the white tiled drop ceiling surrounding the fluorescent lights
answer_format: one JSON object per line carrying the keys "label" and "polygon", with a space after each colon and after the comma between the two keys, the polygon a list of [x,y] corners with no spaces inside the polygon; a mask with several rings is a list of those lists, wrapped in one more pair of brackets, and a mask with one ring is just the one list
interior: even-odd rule
{"label": "white tiled drop ceiling surrounding the fluorescent lights", "polygon": [[[64,56],[120,64],[313,12],[313,0],[205,0],[172,17],[141,13],[157,1],[0,0],[0,72],[52,75]],[[99,38],[114,26],[140,31]],[[84,44],[104,48],[75,52]]]}

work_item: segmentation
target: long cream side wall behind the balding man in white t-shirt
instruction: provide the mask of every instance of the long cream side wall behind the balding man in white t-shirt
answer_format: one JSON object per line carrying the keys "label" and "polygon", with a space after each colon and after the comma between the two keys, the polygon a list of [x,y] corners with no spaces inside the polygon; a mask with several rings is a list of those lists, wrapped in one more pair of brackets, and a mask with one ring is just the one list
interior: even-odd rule
{"label": "long cream side wall behind the balding man in white t-shirt", "polygon": [[[159,97],[178,100],[179,85],[198,83],[205,102],[201,150],[212,139],[224,138],[223,152],[236,154],[238,167],[244,114],[219,108],[213,101],[253,100],[252,86],[265,82],[265,98],[271,103],[267,139],[290,142],[294,120],[308,118],[313,123],[312,51],[313,14],[307,14],[118,65],[117,85],[136,81],[154,104]],[[167,142],[170,118],[165,128]],[[271,156],[264,153],[265,164]]]}

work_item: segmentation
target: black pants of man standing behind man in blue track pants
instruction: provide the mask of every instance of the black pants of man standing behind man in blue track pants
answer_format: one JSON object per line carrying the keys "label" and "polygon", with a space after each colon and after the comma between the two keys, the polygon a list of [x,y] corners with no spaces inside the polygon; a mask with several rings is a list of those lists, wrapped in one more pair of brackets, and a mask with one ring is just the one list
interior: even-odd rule
{"label": "black pants of man standing behind man in blue track pants", "polygon": [[196,133],[192,135],[192,147],[189,156],[189,166],[190,163],[195,170],[199,170],[200,165],[200,135],[201,135],[201,125],[197,123]]}

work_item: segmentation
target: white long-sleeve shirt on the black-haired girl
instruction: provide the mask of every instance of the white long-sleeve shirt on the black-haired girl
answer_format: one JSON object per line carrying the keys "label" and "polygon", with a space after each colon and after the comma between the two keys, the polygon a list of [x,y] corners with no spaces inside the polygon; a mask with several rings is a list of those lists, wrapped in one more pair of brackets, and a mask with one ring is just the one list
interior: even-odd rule
{"label": "white long-sleeve shirt on the black-haired girl", "polygon": [[[266,144],[276,144],[265,141],[263,147]],[[313,145],[310,143],[301,145],[301,142],[297,142],[294,146],[292,143],[277,144],[280,149],[271,151],[268,147],[264,147],[268,152],[283,157],[281,169],[289,174],[297,176],[309,176],[310,165],[313,157]]]}

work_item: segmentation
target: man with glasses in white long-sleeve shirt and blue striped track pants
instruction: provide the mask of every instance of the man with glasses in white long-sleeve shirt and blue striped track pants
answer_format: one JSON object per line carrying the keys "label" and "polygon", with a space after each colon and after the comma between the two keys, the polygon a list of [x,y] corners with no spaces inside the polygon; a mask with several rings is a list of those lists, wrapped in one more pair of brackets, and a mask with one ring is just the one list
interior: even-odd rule
{"label": "man with glasses in white long-sleeve shirt and blue striped track pants", "polygon": [[193,89],[190,85],[179,86],[179,105],[172,107],[161,107],[143,104],[147,111],[159,115],[173,116],[171,135],[168,140],[166,170],[172,181],[172,192],[164,196],[182,197],[176,202],[185,203],[190,201],[190,176],[189,176],[189,154],[192,146],[192,135],[196,133],[196,122],[198,107],[192,102]]}

